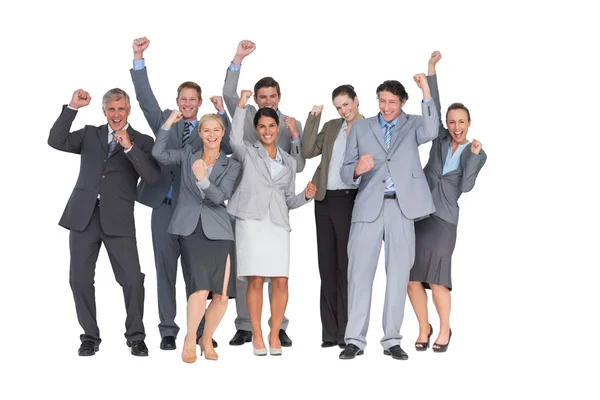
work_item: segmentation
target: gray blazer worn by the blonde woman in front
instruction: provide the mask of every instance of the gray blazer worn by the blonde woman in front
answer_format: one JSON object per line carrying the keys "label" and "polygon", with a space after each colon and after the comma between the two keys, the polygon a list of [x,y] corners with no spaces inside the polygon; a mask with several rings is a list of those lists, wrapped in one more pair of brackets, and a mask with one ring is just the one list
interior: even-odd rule
{"label": "gray blazer worn by the blonde woman in front", "polygon": [[202,157],[202,150],[195,151],[190,144],[180,150],[169,150],[169,136],[176,136],[176,131],[171,133],[161,128],[152,147],[152,156],[161,164],[181,166],[179,201],[167,231],[174,235],[189,236],[196,229],[198,218],[202,217],[202,230],[207,238],[233,240],[233,228],[225,200],[231,197],[240,173],[240,163],[221,152],[208,177],[210,186],[201,191],[196,184],[192,164]]}

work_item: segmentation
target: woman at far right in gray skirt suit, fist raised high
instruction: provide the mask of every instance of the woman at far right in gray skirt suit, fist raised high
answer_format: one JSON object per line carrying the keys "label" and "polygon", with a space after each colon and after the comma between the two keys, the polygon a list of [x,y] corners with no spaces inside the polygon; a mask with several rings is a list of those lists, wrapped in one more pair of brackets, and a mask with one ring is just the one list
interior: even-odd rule
{"label": "woman at far right in gray skirt suit, fist raised high", "polygon": [[[435,65],[442,58],[435,51],[429,60],[427,81],[440,114],[440,95]],[[467,140],[471,115],[461,103],[453,103],[446,112],[446,125],[439,121],[439,135],[433,140],[429,161],[424,168],[431,189],[435,212],[415,223],[415,263],[410,271],[408,297],[419,321],[417,351],[425,351],[433,328],[427,314],[427,293],[431,289],[433,303],[440,318],[440,332],[433,344],[436,353],[445,352],[450,344],[451,261],[456,244],[458,198],[471,191],[487,156],[481,142]]]}

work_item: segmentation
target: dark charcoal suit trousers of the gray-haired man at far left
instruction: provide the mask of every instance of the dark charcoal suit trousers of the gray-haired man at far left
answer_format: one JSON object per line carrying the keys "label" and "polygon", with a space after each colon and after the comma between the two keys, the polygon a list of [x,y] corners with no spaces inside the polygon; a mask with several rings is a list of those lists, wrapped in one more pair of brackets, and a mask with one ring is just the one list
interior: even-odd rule
{"label": "dark charcoal suit trousers of the gray-haired man at far left", "polygon": [[94,275],[100,246],[104,243],[115,278],[123,288],[125,297],[125,337],[129,341],[146,337],[142,318],[144,315],[144,274],[140,270],[137,243],[133,237],[109,236],[102,231],[100,206],[96,206],[90,223],[84,231],[71,230],[69,247],[71,268],[69,282],[79,325],[83,328],[81,340],[101,342],[96,322],[96,293]]}

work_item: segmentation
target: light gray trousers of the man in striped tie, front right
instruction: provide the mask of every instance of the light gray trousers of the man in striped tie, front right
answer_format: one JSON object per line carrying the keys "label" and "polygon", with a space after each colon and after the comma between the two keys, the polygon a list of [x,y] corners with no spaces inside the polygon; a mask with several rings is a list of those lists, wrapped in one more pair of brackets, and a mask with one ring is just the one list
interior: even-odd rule
{"label": "light gray trousers of the man in striped tie, front right", "polygon": [[385,242],[386,288],[383,306],[383,338],[388,349],[400,345],[406,290],[415,259],[414,221],[407,219],[396,199],[384,199],[379,216],[373,222],[353,222],[348,241],[348,325],[345,341],[360,349],[366,336],[371,312],[373,280]]}

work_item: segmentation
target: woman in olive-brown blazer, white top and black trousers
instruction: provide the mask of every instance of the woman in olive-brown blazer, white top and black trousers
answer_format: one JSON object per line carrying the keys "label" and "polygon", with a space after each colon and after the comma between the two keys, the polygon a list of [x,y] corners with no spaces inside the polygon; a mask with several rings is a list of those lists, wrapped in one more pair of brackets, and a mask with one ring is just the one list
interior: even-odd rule
{"label": "woman in olive-brown blazer, white top and black trousers", "polygon": [[344,348],[348,322],[347,246],[358,189],[342,182],[340,168],[350,127],[362,115],[358,112],[358,97],[352,86],[337,87],[331,97],[341,118],[326,122],[317,134],[323,106],[314,106],[302,136],[302,156],[308,159],[321,155],[313,177],[317,186],[315,221],[321,276],[321,347]]}

